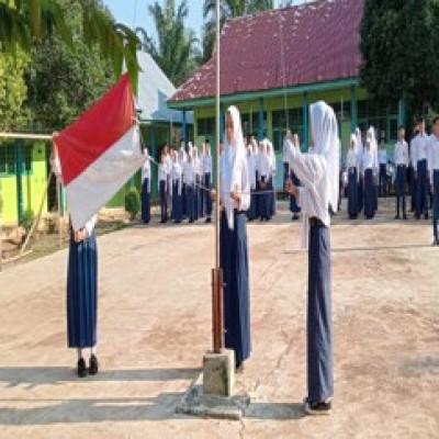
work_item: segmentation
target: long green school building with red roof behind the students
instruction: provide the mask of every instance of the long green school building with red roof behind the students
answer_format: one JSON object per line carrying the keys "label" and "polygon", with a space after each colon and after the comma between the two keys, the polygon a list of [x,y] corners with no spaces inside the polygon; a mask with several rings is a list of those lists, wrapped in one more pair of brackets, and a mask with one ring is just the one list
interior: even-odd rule
{"label": "long green school building with red roof behind the students", "polygon": [[[380,108],[360,85],[362,12],[363,0],[320,0],[227,20],[221,35],[222,132],[224,111],[234,104],[245,135],[273,142],[281,169],[285,128],[307,150],[308,105],[325,100],[337,114],[344,154],[356,126],[384,132],[392,148],[405,120],[404,101]],[[213,56],[169,101],[193,111],[196,145],[207,137],[215,147],[215,75]]]}

